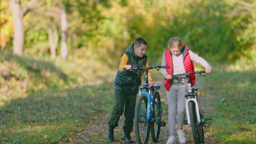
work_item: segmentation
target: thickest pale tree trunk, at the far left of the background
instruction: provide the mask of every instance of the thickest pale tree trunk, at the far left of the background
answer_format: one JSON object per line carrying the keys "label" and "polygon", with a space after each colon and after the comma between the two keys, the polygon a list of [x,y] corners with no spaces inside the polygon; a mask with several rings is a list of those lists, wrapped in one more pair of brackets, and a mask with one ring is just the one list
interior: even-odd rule
{"label": "thickest pale tree trunk, at the far left of the background", "polygon": [[13,14],[14,23],[14,39],[13,39],[13,54],[22,55],[24,45],[24,26],[23,13],[19,3],[15,0],[9,0],[10,9]]}

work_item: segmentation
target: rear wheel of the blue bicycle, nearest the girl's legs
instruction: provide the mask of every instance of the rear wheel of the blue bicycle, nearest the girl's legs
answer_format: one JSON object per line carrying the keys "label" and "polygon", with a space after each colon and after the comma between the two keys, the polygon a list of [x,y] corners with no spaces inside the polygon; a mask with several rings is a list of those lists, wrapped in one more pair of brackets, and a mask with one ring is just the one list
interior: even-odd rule
{"label": "rear wheel of the blue bicycle, nearest the girl's legs", "polygon": [[[154,100],[157,102],[159,108],[161,108],[161,100],[160,100],[159,93],[156,91],[154,95],[155,95]],[[160,112],[155,104],[153,105],[153,110],[154,111],[152,112],[152,117],[153,118],[159,117]],[[161,118],[151,122],[151,127],[150,127],[151,138],[155,143],[158,141],[159,134],[160,134],[160,128],[161,128]]]}

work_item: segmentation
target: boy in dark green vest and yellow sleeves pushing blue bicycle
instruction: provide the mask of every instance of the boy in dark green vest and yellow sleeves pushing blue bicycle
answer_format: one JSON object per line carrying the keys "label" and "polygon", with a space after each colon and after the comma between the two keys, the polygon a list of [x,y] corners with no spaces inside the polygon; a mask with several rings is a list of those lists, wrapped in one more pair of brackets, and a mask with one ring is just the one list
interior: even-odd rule
{"label": "boy in dark green vest and yellow sleeves pushing blue bicycle", "polygon": [[[119,118],[123,114],[123,111],[125,111],[125,121],[123,125],[124,141],[128,144],[133,143],[130,133],[133,129],[136,96],[138,87],[141,84],[143,72],[140,70],[131,70],[131,68],[132,66],[148,66],[147,56],[145,55],[146,48],[146,40],[142,37],[138,37],[133,44],[128,46],[125,53],[122,54],[114,83],[115,105],[110,117],[107,132],[107,140],[110,142],[114,141],[114,128],[118,126]],[[154,86],[154,83],[151,82],[152,79],[149,72],[148,81],[150,87]]]}

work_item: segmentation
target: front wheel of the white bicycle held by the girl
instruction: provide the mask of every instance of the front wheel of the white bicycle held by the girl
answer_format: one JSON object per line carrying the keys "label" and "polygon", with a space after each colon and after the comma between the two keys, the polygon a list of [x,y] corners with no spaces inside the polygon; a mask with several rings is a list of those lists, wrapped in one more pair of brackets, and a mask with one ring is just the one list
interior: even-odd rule
{"label": "front wheel of the white bicycle held by the girl", "polygon": [[190,125],[192,127],[192,135],[195,144],[204,144],[204,134],[203,134],[203,127],[197,121],[196,117],[196,109],[194,102],[188,103],[189,107],[189,117],[190,117]]}

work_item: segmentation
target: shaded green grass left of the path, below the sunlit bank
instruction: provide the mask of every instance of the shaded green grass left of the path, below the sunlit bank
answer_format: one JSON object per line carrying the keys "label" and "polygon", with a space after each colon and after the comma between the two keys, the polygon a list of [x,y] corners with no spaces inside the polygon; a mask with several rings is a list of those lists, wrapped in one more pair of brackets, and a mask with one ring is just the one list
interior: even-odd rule
{"label": "shaded green grass left of the path, below the sunlit bank", "polygon": [[97,113],[110,112],[113,84],[41,91],[0,109],[0,141],[18,144],[70,141]]}

